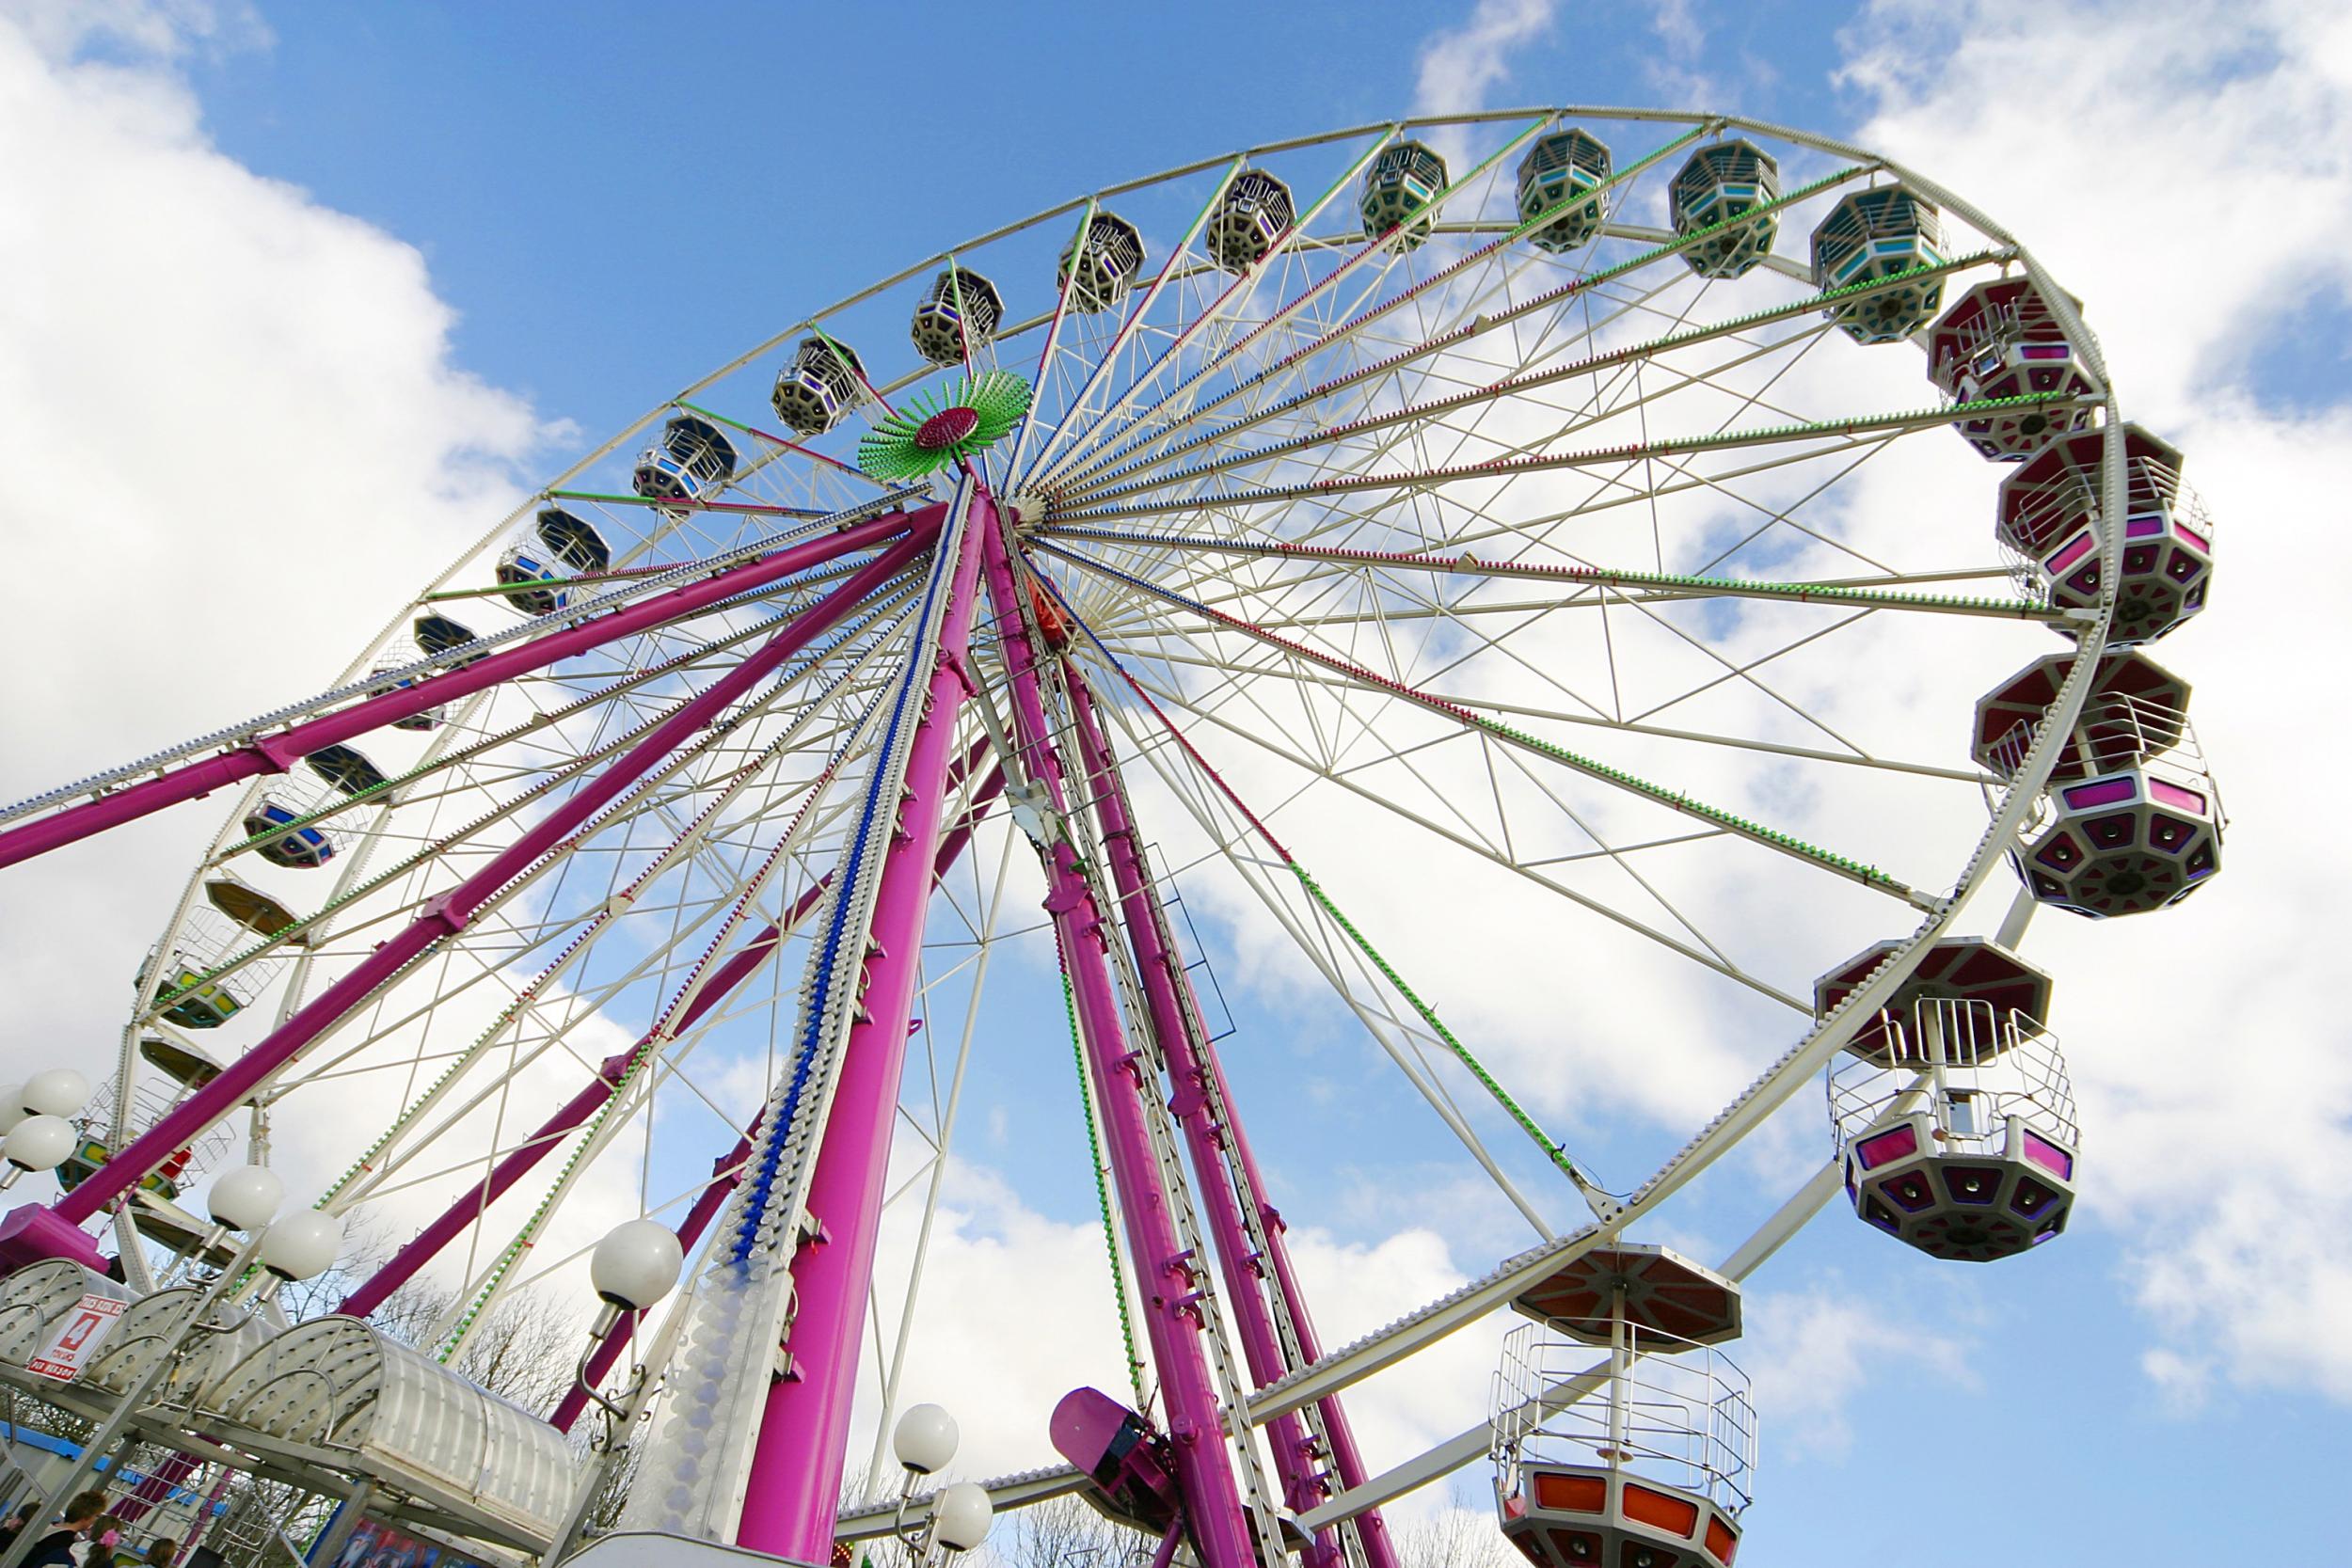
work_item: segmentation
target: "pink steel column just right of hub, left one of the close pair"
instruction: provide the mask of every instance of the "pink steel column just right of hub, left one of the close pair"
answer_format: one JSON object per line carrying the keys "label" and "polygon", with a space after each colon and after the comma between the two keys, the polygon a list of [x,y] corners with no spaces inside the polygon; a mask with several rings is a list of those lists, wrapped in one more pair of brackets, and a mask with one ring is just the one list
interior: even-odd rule
{"label": "pink steel column just right of hub, left one of the close pair", "polygon": [[[1004,646],[1004,670],[1011,677],[1014,738],[1030,773],[1042,778],[1056,811],[1068,811],[1061,757],[1044,717],[1037,689],[1037,651],[1021,621],[1021,588],[1011,557],[997,529],[981,536],[988,567],[988,599],[997,616]],[[1110,985],[1103,952],[1110,945],[1094,893],[1077,870],[1077,851],[1068,839],[1047,856],[1047,912],[1070,976],[1080,1037],[1087,1044],[1087,1072],[1103,1117],[1103,1147],[1120,1185],[1120,1218],[1127,1246],[1143,1286],[1143,1328],[1160,1371],[1160,1394],[1167,1401],[1169,1439],[1176,1460],[1176,1483],[1183,1493],[1185,1523],[1204,1568],[1254,1568],[1256,1537],[1242,1514],[1242,1493],[1232,1479],[1232,1453],[1225,1448],[1216,1385],[1209,1380],[1209,1356],[1202,1349],[1200,1305],[1192,1293],[1192,1258],[1176,1234],[1176,1215],[1160,1182],[1160,1161],[1143,1119],[1138,1056],[1127,1048],[1120,1027],[1120,999]],[[1242,1441],[1249,1434],[1237,1434]]]}

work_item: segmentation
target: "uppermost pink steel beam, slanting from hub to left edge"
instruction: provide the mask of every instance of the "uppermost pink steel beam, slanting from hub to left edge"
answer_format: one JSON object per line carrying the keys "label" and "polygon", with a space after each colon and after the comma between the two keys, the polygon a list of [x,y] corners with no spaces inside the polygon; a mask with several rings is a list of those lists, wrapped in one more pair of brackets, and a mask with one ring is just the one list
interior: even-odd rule
{"label": "uppermost pink steel beam, slanting from hub to left edge", "polygon": [[80,806],[66,806],[49,816],[33,818],[31,823],[0,830],[0,867],[31,860],[33,856],[45,856],[52,849],[64,849],[66,844],[87,839],[94,832],[120,827],[122,823],[148,816],[151,811],[162,811],[165,806],[212,795],[223,785],[259,778],[261,773],[285,773],[296,759],[308,757],[322,745],[365,736],[367,731],[381,729],[393,719],[407,719],[461,696],[487,691],[489,686],[508,682],[517,675],[543,670],[560,658],[586,654],[604,642],[633,637],[637,632],[654,630],[656,625],[680,621],[710,609],[720,599],[731,599],[741,592],[764,588],[793,576],[795,571],[821,567],[823,562],[877,545],[898,534],[927,541],[929,534],[938,529],[941,515],[943,508],[936,505],[917,512],[887,512],[882,517],[851,524],[837,534],[826,534],[823,538],[811,538],[776,550],[774,555],[762,555],[760,559],[743,562],[741,567],[724,567],[699,583],[673,588],[670,592],[654,595],[642,604],[630,604],[612,611],[609,616],[583,621],[581,625],[572,625],[546,637],[534,637],[532,642],[501,654],[485,654],[461,670],[428,675],[412,686],[395,686],[381,696],[362,698],[350,708],[339,708],[336,712],[318,719],[292,724],[273,736],[259,736],[247,745],[221,752],[219,757],[186,762],[181,766],[165,769],[155,778],[141,778],[134,785],[82,802]]}

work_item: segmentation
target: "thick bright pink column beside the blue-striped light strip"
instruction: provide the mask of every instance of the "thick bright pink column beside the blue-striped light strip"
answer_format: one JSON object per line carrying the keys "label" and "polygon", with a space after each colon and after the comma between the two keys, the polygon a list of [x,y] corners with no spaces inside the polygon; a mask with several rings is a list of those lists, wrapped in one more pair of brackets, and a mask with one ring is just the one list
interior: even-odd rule
{"label": "thick bright pink column beside the blue-striped light strip", "polygon": [[[976,538],[993,536],[993,529],[995,508],[974,484],[964,524],[955,531],[957,555],[938,623],[938,658],[908,748],[906,788],[898,802],[882,802],[884,811],[896,806],[896,823],[866,926],[858,1018],[842,1041],[842,1070],[809,1175],[809,1218],[823,1229],[793,1260],[797,1307],[786,1340],[793,1371],[767,1387],[736,1523],[736,1544],[809,1563],[833,1556],[858,1331],[866,1324],[875,1234],[882,1227],[882,1182],[898,1117],[898,1079],[906,1072],[922,924],[931,907],[948,804],[948,748],[955,741],[955,712],[971,691],[967,649],[978,599]],[[746,1356],[764,1359],[764,1352],[746,1347]],[[755,1368],[757,1361],[748,1361],[746,1375],[757,1375]]]}

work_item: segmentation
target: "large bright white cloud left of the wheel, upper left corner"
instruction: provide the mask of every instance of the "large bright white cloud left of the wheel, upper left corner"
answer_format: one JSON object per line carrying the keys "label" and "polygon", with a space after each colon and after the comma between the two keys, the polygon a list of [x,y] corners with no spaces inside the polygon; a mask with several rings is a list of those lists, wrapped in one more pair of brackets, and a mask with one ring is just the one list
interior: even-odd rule
{"label": "large bright white cloud left of the wheel, upper left corner", "polygon": [[[329,684],[386,588],[470,545],[550,437],[454,364],[456,315],[414,247],[209,143],[174,61],[266,40],[245,7],[0,9],[0,531],[12,581],[38,585],[0,616],[9,799]],[[223,799],[12,872],[7,1072],[106,1077],[132,971]],[[252,1030],[205,1044],[235,1053]],[[541,1079],[581,1072],[550,1058],[527,1093]],[[280,1126],[296,1194],[381,1128],[386,1081]]]}

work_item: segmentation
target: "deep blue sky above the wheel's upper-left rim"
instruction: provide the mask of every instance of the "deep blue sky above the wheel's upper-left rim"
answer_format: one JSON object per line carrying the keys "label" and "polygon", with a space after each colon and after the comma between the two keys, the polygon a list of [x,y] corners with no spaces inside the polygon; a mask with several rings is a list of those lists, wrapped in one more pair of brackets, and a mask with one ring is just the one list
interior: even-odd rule
{"label": "deep blue sky above the wheel's upper-left rim", "polygon": [[[602,430],[769,313],[1070,195],[1397,113],[1418,5],[938,9],[303,7],[193,63],[219,146],[423,249],[468,369]],[[1823,120],[1835,7],[1755,5],[1710,40],[1724,103]],[[1658,101],[1642,7],[1512,47],[1496,103],[1592,82]],[[957,73],[962,82],[957,85]],[[1522,94],[1522,96],[1515,96]],[[1595,96],[1592,101],[1616,101]],[[1835,113],[1830,118],[1837,118]],[[593,324],[593,327],[590,327]]]}

